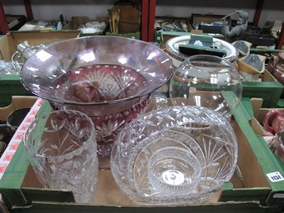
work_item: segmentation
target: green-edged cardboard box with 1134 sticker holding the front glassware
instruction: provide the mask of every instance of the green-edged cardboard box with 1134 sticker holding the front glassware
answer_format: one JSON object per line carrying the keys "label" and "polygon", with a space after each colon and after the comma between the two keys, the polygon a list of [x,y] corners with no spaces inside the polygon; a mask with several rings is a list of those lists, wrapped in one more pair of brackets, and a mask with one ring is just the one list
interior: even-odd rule
{"label": "green-edged cardboard box with 1134 sticker holding the front glassware", "polygon": [[[50,111],[44,102],[38,114]],[[284,185],[269,182],[263,170],[278,170],[283,174],[270,155],[261,156],[259,138],[254,133],[241,104],[234,111],[234,129],[239,141],[238,165],[241,175],[235,173],[230,182],[225,182],[222,192],[211,200],[182,207],[141,207],[124,195],[114,182],[111,171],[99,171],[99,183],[95,204],[74,204],[72,192],[68,190],[44,189],[38,182],[23,149],[23,143],[13,156],[4,176],[0,180],[0,193],[13,212],[275,212],[279,199],[275,193],[283,193]],[[263,148],[260,146],[260,148]],[[268,166],[269,165],[269,166]],[[282,202],[282,200],[280,200]],[[271,205],[268,205],[271,204]]]}

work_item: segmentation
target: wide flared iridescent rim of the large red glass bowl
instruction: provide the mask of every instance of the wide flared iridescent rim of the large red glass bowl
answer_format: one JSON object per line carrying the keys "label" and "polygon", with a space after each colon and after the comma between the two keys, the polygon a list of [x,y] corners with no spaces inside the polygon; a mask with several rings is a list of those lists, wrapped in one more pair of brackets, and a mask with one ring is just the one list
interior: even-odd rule
{"label": "wide flared iridescent rim of the large red glass bowl", "polygon": [[[52,66],[55,67],[56,65],[60,65],[60,61],[58,59],[64,59],[67,58],[67,56],[75,57],[76,53],[75,45],[77,45],[77,48],[80,48],[80,45],[89,45],[90,43],[93,45],[92,48],[94,50],[93,51],[94,53],[99,49],[98,47],[104,48],[106,44],[108,44],[109,47],[113,48],[115,46],[117,49],[122,49],[122,50],[117,51],[116,48],[109,50],[102,49],[103,53],[101,53],[102,51],[96,53],[97,55],[95,55],[96,57],[92,61],[92,63],[86,62],[85,66],[106,65],[108,64],[108,62],[106,62],[105,58],[107,57],[112,58],[116,56],[116,61],[115,60],[109,61],[109,65],[124,65],[133,70],[139,70],[139,73],[143,75],[143,77],[146,77],[147,80],[146,89],[143,89],[143,91],[139,91],[138,94],[134,94],[131,97],[116,99],[114,101],[109,101],[109,102],[75,102],[75,101],[69,101],[67,99],[51,97],[50,93],[45,95],[36,91],[38,88],[41,88],[41,85],[36,84],[35,75],[31,74],[28,75],[28,70],[38,70],[38,72],[47,72],[46,71],[48,70],[47,67],[50,68]],[[69,50],[68,49],[69,46],[71,46],[72,49],[70,48]],[[64,52],[62,52],[62,49],[66,47],[69,51],[67,51],[64,54]],[[57,48],[58,51],[56,51],[55,48]],[[46,53],[50,54],[51,57],[57,59],[53,59],[53,62],[51,63],[46,61],[42,62],[38,60],[36,56],[37,53],[39,53],[40,51],[45,51]],[[86,50],[85,49],[80,50],[80,53],[82,51]],[[119,62],[118,57],[121,55],[125,56],[127,54],[129,54],[129,58],[125,58],[124,62]],[[100,58],[104,58],[104,62],[99,61]],[[131,61],[132,64],[129,65],[129,61],[126,60],[129,61],[132,60]],[[134,65],[137,65],[137,67],[134,67]],[[82,67],[82,65],[76,66],[75,68],[78,67]],[[67,70],[67,67],[65,68],[65,70]],[[25,64],[23,65],[23,69],[21,70],[20,73],[20,79],[21,83],[23,84],[23,87],[28,89],[28,91],[30,91],[32,94],[35,94],[36,96],[41,97],[43,99],[48,99],[52,102],[58,102],[62,104],[74,104],[74,105],[106,105],[106,104],[125,102],[132,99],[138,99],[147,94],[150,94],[151,92],[155,91],[159,87],[162,87],[163,84],[168,82],[170,77],[173,75],[173,70],[174,70],[173,62],[172,60],[170,60],[169,55],[151,43],[146,43],[142,40],[136,40],[132,38],[123,38],[119,36],[95,35],[95,36],[84,36],[80,38],[71,38],[68,40],[61,40],[55,43],[51,43],[45,46],[44,48],[41,48],[34,55],[28,58],[28,60],[26,60]],[[55,72],[54,70],[51,71]],[[48,72],[50,72],[50,70],[48,70]],[[52,73],[50,74],[50,76],[51,75]],[[28,77],[30,77],[30,79],[28,79]],[[48,77],[45,76],[45,78]],[[43,81],[43,79],[40,78],[38,78],[38,80]],[[45,90],[45,92],[48,91],[48,88],[41,88],[41,89]]]}

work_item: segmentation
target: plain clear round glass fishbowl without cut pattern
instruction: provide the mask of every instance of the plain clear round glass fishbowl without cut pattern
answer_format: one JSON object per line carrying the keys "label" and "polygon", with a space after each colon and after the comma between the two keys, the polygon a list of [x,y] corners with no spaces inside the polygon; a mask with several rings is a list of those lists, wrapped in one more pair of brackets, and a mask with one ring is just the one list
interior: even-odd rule
{"label": "plain clear round glass fishbowl without cut pattern", "polygon": [[175,69],[169,93],[175,105],[208,107],[231,119],[242,90],[239,72],[231,62],[213,55],[194,55]]}

